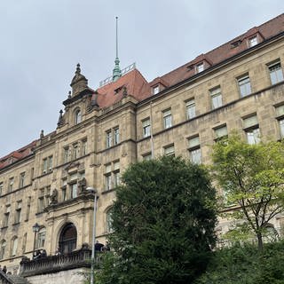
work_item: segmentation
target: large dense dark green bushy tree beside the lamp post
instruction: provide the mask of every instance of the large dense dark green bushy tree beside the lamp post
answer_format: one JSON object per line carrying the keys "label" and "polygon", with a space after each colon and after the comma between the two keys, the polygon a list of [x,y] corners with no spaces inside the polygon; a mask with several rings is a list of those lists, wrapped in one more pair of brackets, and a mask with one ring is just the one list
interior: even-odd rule
{"label": "large dense dark green bushy tree beside the lamp post", "polygon": [[215,245],[216,192],[207,170],[180,157],[130,165],[113,207],[97,283],[192,283]]}

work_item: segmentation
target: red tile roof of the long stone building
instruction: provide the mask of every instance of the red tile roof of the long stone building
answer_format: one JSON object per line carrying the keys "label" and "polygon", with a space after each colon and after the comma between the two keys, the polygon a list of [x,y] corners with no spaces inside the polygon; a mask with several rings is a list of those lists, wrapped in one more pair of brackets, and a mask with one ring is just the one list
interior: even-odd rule
{"label": "red tile roof of the long stone building", "polygon": [[[122,75],[116,82],[108,83],[98,89],[98,104],[100,107],[111,106],[115,102],[122,99],[123,87],[127,88],[128,95],[134,97],[138,101],[146,99],[152,96],[151,86],[155,83],[162,83],[165,87],[170,87],[176,83],[182,82],[185,79],[195,75],[195,69],[189,68],[195,64],[206,61],[210,66],[217,65],[218,63],[229,59],[234,55],[248,49],[247,39],[250,36],[259,35],[260,40],[267,40],[272,36],[276,36],[284,31],[284,13],[280,14],[276,18],[269,20],[259,27],[250,28],[246,33],[241,36],[237,36],[233,40],[225,43],[216,49],[209,51],[205,54],[201,54],[195,59],[187,62],[181,67],[177,67],[169,73],[155,78],[152,82],[147,83],[146,79],[141,73],[134,69],[129,73]],[[233,46],[232,43],[239,42]],[[95,96],[95,95],[93,95]],[[36,146],[36,141],[33,141],[28,146],[24,146],[17,151],[12,152],[0,159],[0,169],[9,165],[11,160],[18,161],[31,153],[31,148]]]}

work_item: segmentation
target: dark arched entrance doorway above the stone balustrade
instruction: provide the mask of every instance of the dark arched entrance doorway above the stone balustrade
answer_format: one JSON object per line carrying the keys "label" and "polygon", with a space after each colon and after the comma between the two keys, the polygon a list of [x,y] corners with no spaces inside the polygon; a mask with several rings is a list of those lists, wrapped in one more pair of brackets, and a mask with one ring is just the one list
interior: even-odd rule
{"label": "dark arched entrance doorway above the stone balustrade", "polygon": [[65,225],[59,237],[59,250],[63,254],[73,251],[77,245],[77,230],[73,223]]}

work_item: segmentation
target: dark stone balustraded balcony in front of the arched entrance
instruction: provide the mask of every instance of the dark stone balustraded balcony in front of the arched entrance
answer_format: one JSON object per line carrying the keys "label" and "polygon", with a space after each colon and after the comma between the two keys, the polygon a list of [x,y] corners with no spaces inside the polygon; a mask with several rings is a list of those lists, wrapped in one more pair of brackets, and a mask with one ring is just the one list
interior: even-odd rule
{"label": "dark stone balustraded balcony in front of the arched entrance", "polygon": [[89,248],[59,256],[46,256],[33,260],[24,258],[20,262],[20,276],[28,277],[83,267],[91,267],[91,249]]}

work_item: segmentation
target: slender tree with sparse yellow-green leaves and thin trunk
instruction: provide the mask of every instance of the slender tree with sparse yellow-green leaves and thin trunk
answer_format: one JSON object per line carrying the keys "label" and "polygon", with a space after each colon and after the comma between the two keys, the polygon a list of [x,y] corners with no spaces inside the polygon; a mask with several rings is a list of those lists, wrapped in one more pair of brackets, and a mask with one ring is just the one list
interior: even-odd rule
{"label": "slender tree with sparse yellow-green leaves and thin trunk", "polygon": [[213,146],[213,162],[227,201],[241,208],[231,217],[249,227],[261,251],[269,222],[284,210],[284,144],[248,145],[233,134]]}

